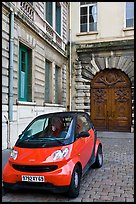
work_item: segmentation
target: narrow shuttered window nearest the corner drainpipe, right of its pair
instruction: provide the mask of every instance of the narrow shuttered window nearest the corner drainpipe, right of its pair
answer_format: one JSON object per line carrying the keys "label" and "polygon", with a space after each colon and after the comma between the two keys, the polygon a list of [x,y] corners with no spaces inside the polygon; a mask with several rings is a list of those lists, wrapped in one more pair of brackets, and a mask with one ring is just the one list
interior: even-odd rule
{"label": "narrow shuttered window nearest the corner drainpipe, right of its pair", "polygon": [[55,103],[61,103],[61,69],[55,66]]}

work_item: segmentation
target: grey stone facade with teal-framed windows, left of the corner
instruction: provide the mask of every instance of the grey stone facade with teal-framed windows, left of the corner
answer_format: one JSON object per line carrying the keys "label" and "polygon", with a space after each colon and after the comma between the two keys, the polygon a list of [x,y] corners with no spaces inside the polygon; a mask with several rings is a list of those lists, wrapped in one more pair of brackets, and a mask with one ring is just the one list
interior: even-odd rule
{"label": "grey stone facade with teal-framed windows, left of the corner", "polygon": [[2,149],[35,116],[66,110],[67,31],[67,2],[2,2]]}

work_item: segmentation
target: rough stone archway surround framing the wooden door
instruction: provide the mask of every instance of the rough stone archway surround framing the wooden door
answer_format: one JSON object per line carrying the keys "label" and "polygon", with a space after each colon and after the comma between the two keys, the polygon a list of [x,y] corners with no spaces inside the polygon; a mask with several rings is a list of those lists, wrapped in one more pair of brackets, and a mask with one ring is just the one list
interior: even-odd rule
{"label": "rough stone archway surround framing the wooden door", "polygon": [[[112,53],[112,55],[111,55]],[[72,109],[91,113],[90,84],[94,77],[104,70],[117,69],[123,72],[131,83],[131,132],[134,131],[134,55],[132,50],[91,53],[80,50],[78,60],[74,64],[72,76]]]}

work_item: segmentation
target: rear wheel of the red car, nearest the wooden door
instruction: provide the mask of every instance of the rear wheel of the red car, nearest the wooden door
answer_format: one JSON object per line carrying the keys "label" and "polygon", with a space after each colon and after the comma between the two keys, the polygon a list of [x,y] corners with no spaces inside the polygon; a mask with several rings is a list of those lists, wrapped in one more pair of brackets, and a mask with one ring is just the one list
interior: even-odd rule
{"label": "rear wheel of the red car, nearest the wooden door", "polygon": [[102,147],[99,145],[96,155],[95,163],[92,165],[93,168],[100,168],[103,165],[103,152]]}

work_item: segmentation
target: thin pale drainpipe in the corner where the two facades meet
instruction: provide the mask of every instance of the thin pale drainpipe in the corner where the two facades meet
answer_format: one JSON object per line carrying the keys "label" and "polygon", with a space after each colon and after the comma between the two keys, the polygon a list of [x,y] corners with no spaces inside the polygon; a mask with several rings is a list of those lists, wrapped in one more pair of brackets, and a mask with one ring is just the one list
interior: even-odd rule
{"label": "thin pale drainpipe in the corner where the two facades meet", "polygon": [[71,111],[71,2],[69,2],[69,110]]}

